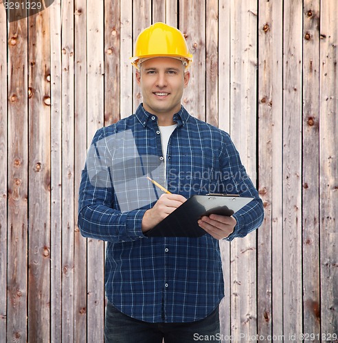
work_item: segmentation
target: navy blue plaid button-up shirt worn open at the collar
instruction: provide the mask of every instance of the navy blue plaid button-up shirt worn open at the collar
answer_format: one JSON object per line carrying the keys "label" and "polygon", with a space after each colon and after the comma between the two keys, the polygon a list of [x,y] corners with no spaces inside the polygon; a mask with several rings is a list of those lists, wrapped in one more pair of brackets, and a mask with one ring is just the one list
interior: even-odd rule
{"label": "navy blue plaid button-up shirt worn open at the collar", "polygon": [[[254,197],[234,214],[237,224],[227,240],[245,237],[262,224],[263,207],[229,135],[190,116],[183,106],[173,119],[178,125],[168,143],[168,190],[185,198],[206,193]],[[92,146],[102,152],[102,141],[126,130],[133,133],[140,156],[163,159],[157,117],[147,113],[142,104],[135,115],[98,130]],[[122,211],[112,185],[91,182],[88,162],[82,171],[78,226],[84,237],[108,242],[108,300],[122,313],[146,322],[205,318],[224,296],[218,241],[209,234],[199,238],[145,237],[142,217],[154,202]]]}

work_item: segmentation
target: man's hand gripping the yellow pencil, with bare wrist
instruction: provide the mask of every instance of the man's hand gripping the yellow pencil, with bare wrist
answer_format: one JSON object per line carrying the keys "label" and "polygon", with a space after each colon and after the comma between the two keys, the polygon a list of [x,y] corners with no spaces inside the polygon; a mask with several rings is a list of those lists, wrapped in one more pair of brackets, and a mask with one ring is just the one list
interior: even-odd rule
{"label": "man's hand gripping the yellow pencil, with bare wrist", "polygon": [[186,199],[179,194],[162,194],[154,205],[153,209],[149,209],[144,213],[142,219],[142,232],[146,232],[159,224],[165,217],[170,215],[172,211],[181,206]]}

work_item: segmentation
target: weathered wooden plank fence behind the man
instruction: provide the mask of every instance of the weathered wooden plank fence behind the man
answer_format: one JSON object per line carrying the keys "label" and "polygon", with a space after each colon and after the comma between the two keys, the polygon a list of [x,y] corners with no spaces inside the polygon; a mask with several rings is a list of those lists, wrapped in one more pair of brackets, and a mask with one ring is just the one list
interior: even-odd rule
{"label": "weathered wooden plank fence behind the man", "polygon": [[155,21],[184,32],[184,105],[232,135],[264,200],[256,233],[221,242],[223,342],[335,340],[337,19],[336,0],[55,0],[8,23],[0,0],[0,342],[103,342],[80,171],[141,101],[128,57]]}

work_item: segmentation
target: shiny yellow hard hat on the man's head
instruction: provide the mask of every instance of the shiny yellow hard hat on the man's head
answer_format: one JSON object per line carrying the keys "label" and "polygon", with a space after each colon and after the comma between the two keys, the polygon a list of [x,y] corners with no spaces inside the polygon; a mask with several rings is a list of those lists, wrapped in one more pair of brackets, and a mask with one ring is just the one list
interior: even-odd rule
{"label": "shiny yellow hard hat on the man's head", "polygon": [[154,57],[178,58],[185,68],[192,62],[192,54],[182,32],[165,23],[155,23],[144,29],[136,39],[134,52],[131,64],[137,69],[140,62]]}

